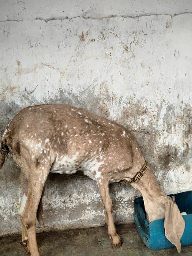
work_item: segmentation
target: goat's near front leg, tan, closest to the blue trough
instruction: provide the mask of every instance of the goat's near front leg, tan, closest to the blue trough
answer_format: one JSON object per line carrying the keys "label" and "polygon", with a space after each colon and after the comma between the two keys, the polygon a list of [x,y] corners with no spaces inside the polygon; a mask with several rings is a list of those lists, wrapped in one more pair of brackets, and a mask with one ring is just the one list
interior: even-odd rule
{"label": "goat's near front leg, tan, closest to the blue trough", "polygon": [[105,218],[107,218],[106,222],[108,225],[108,236],[110,239],[112,238],[113,248],[119,248],[121,247],[121,239],[119,238],[116,232],[116,228],[113,221],[113,214],[112,214],[113,206],[112,206],[112,200],[109,194],[108,181],[102,179],[101,183],[98,182],[98,188],[99,188],[101,200],[104,206]]}

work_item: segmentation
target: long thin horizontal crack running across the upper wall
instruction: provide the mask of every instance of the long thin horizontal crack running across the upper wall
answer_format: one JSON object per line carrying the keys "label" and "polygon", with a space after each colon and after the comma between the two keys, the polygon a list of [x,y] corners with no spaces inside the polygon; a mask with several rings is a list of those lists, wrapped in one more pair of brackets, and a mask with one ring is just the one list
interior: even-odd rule
{"label": "long thin horizontal crack running across the upper wall", "polygon": [[72,19],[76,19],[76,18],[82,18],[82,19],[85,19],[85,20],[88,20],[88,19],[92,19],[92,20],[102,20],[102,19],[110,19],[110,18],[116,18],[116,17],[119,17],[119,18],[132,18],[132,19],[137,19],[137,18],[141,18],[141,17],[150,17],[150,16],[162,16],[162,15],[165,15],[165,16],[170,16],[170,17],[175,17],[175,16],[179,16],[179,15],[182,15],[182,14],[192,14],[192,12],[181,12],[181,13],[175,13],[174,15],[171,15],[171,14],[166,14],[166,13],[160,13],[160,14],[144,14],[144,15],[111,15],[111,16],[107,16],[107,17],[90,17],[90,16],[75,16],[75,17],[64,17],[64,18],[56,18],[56,17],[53,17],[53,18],[49,18],[49,19],[43,19],[43,18],[36,18],[36,19],[24,19],[24,20],[1,20],[0,22],[9,22],[9,21],[17,21],[17,22],[20,22],[20,21],[34,21],[34,20],[42,20],[42,21],[45,21],[45,22],[48,22],[48,21],[52,21],[52,20],[72,20]]}

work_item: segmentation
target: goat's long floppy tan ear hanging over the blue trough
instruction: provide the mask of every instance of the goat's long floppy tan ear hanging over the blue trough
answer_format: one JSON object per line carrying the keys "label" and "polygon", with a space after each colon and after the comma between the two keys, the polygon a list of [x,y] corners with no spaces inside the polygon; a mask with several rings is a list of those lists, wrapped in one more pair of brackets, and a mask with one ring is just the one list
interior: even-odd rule
{"label": "goat's long floppy tan ear hanging over the blue trough", "polygon": [[177,204],[168,199],[165,203],[165,236],[177,247],[178,253],[181,252],[180,239],[185,229],[185,220],[183,219]]}

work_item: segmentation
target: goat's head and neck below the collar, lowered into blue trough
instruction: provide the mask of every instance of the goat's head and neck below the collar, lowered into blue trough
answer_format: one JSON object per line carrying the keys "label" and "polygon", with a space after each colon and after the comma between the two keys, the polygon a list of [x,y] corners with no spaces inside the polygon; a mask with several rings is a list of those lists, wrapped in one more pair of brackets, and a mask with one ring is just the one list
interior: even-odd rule
{"label": "goat's head and neck below the collar, lowered into blue trough", "polygon": [[165,236],[180,253],[180,239],[185,229],[185,220],[177,204],[164,194],[150,168],[142,179],[138,183],[132,183],[132,186],[142,193],[148,222],[165,218]]}

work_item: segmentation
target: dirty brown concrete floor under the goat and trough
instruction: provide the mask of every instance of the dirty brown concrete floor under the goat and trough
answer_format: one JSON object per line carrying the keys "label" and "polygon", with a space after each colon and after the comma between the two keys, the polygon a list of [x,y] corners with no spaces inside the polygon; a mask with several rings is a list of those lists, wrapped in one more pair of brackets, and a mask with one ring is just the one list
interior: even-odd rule
{"label": "dirty brown concrete floor under the goat and trough", "polygon": [[[176,248],[160,251],[148,249],[142,242],[134,224],[116,226],[123,245],[113,249],[105,227],[52,231],[37,234],[42,256],[173,256],[179,255]],[[25,255],[20,246],[21,236],[0,238],[1,256]],[[191,256],[192,246],[182,247],[181,256]]]}

